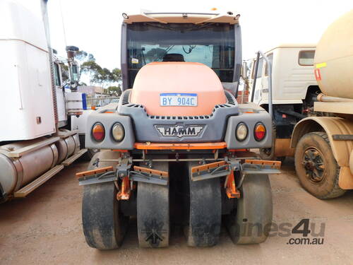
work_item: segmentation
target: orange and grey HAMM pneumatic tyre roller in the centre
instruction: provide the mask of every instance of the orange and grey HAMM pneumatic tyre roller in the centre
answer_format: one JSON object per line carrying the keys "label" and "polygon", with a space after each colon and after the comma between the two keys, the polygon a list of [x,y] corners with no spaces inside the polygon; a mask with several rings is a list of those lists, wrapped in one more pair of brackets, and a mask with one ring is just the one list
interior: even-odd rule
{"label": "orange and grey HAMM pneumatic tyre roller in the centre", "polygon": [[[239,15],[123,13],[119,103],[88,117],[85,143],[100,149],[83,185],[90,247],[121,245],[137,216],[140,247],[167,247],[170,224],[189,246],[217,244],[221,220],[235,244],[266,240],[272,221],[270,114],[236,100]],[[266,58],[265,58],[266,59]]]}

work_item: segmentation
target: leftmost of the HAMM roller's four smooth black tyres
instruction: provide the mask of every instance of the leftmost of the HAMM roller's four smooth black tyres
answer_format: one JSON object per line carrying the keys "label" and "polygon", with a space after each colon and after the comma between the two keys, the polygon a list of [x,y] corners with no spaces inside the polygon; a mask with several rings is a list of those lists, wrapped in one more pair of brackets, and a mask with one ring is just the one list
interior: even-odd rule
{"label": "leftmost of the HAMM roller's four smooth black tyres", "polygon": [[[88,165],[88,170],[96,168],[97,158],[116,158],[119,153],[102,151],[96,153]],[[99,167],[115,163],[99,163]],[[107,250],[116,249],[126,234],[128,216],[119,212],[114,182],[85,185],[83,187],[82,225],[85,240],[90,247]]]}

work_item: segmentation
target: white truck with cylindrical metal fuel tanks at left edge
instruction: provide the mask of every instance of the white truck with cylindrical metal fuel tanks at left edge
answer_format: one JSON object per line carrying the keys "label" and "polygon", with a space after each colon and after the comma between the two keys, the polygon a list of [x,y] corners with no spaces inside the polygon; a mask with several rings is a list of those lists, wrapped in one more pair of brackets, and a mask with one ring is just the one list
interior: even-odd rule
{"label": "white truck with cylindrical metal fuel tanks at left edge", "polygon": [[[75,92],[76,47],[53,55],[46,1],[43,20],[20,4],[0,1],[0,201],[24,197],[85,153],[71,116],[82,114]],[[70,88],[62,82],[68,64]]]}

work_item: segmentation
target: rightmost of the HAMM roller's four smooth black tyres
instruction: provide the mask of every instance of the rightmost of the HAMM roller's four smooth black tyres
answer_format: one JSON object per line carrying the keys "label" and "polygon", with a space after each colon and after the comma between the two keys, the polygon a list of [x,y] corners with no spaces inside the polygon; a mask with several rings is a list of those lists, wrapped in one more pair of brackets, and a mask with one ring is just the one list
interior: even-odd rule
{"label": "rightmost of the HAMM roller's four smooth black tyres", "polygon": [[237,208],[226,218],[229,235],[237,245],[262,243],[270,232],[273,213],[268,175],[246,175],[239,191]]}

